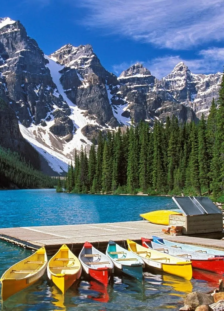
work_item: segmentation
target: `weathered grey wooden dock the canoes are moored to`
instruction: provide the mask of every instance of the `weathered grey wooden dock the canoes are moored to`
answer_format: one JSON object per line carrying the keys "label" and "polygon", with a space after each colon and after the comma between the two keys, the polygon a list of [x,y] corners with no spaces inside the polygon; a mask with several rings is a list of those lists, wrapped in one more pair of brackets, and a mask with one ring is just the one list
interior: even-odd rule
{"label": "weathered grey wooden dock the canoes are moored to", "polygon": [[[17,227],[0,229],[0,239],[20,245],[24,248],[38,249],[45,246],[48,253],[54,253],[62,244],[70,248],[80,250],[85,241],[89,241],[101,249],[104,249],[109,240],[123,244],[126,239],[139,241],[141,237],[151,238],[157,235],[164,238],[163,225],[155,225],[145,220],[126,221],[115,223],[83,224],[83,225],[57,225],[40,227]],[[188,244],[196,244],[224,251],[224,233],[219,236],[212,234],[202,237],[171,236],[166,239]],[[123,244],[124,245],[124,244]]]}

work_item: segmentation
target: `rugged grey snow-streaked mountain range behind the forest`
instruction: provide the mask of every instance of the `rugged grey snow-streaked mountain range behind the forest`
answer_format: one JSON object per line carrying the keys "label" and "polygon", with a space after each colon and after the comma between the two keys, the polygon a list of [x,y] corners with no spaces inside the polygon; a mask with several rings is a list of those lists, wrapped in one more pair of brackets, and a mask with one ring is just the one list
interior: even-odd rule
{"label": "rugged grey snow-streaked mountain range behind the forest", "polygon": [[221,78],[192,74],[183,63],[160,81],[139,63],[116,77],[91,45],[66,44],[46,56],[19,21],[0,19],[0,97],[23,137],[59,174],[75,148],[89,148],[100,130],[172,114],[197,121],[217,99]]}

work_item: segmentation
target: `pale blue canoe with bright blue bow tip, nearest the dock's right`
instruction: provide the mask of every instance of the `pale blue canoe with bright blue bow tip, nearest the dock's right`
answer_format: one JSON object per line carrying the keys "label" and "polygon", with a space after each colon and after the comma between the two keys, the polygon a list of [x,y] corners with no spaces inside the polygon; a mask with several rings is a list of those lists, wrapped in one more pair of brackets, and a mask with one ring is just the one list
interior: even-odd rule
{"label": "pale blue canoe with bright blue bow tip, nearest the dock's right", "polygon": [[193,253],[202,254],[202,255],[209,254],[209,255],[213,255],[214,257],[224,257],[224,252],[218,251],[213,248],[205,248],[205,247],[195,246],[195,245],[190,245],[190,244],[171,242],[165,239],[158,238],[157,236],[153,236],[153,242],[158,243],[158,244],[163,244],[168,247],[182,249],[183,251],[187,251],[187,252],[193,252]]}

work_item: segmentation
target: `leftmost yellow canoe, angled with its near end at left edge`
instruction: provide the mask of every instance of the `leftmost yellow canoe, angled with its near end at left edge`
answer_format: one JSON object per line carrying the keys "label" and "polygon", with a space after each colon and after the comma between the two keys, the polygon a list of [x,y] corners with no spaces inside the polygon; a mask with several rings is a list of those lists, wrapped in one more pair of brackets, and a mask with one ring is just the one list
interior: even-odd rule
{"label": "leftmost yellow canoe, angled with its near end at left edge", "polygon": [[47,267],[47,255],[41,247],[31,256],[10,267],[1,278],[2,300],[38,281]]}

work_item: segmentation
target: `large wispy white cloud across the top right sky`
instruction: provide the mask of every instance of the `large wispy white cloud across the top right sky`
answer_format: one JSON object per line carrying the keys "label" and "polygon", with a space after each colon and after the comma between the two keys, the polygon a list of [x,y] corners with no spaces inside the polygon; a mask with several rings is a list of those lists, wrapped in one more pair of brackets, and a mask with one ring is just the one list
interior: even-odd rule
{"label": "large wispy white cloud across the top right sky", "polygon": [[224,39],[223,0],[82,0],[78,5],[87,9],[86,26],[158,47],[188,49]]}

